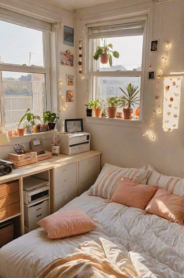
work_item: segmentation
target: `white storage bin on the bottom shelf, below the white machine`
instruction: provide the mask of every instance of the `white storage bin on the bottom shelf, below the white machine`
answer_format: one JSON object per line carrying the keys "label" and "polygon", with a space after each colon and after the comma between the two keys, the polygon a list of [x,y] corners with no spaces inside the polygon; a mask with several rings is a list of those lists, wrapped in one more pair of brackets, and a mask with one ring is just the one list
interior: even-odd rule
{"label": "white storage bin on the bottom shelf, below the white machine", "polygon": [[37,222],[49,215],[49,199],[32,206],[24,205],[24,225],[30,232],[40,227]]}

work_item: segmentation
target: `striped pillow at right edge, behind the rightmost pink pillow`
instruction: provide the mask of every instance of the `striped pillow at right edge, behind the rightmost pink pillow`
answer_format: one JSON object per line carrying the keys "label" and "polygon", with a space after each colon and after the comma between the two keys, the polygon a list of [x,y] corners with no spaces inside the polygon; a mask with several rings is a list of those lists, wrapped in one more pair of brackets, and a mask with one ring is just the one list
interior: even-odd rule
{"label": "striped pillow at right edge, behind the rightmost pink pillow", "polygon": [[148,165],[147,169],[152,170],[147,184],[157,184],[171,194],[184,198],[184,178],[164,176],[158,173],[151,165]]}

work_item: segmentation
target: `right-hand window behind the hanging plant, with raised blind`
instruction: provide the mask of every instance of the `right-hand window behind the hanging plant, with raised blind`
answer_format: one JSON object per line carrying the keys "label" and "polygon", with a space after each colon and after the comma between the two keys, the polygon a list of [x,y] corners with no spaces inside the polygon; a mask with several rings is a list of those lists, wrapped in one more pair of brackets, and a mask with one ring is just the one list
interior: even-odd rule
{"label": "right-hand window behind the hanging plant, with raised blind", "polygon": [[[108,100],[111,96],[122,96],[119,87],[125,89],[127,84],[132,83],[134,86],[139,86],[140,104],[142,103],[145,22],[146,16],[137,16],[100,22],[98,25],[97,23],[87,24],[91,99]],[[119,58],[112,55],[111,67],[109,62],[101,64],[100,59],[93,59],[97,46],[102,46],[103,40],[106,44],[113,45],[113,51],[119,52]],[[138,106],[135,105],[133,117]]]}

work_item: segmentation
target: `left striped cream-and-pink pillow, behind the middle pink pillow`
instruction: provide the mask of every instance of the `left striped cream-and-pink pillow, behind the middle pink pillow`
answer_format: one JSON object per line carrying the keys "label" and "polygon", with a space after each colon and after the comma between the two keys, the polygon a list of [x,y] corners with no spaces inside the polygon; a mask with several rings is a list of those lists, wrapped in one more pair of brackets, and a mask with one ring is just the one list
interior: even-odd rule
{"label": "left striped cream-and-pink pillow, behind the middle pink pillow", "polygon": [[144,179],[147,180],[151,170],[146,170],[146,168],[147,166],[141,169],[121,168],[105,163],[97,180],[90,187],[88,195],[110,199],[123,177],[138,183]]}

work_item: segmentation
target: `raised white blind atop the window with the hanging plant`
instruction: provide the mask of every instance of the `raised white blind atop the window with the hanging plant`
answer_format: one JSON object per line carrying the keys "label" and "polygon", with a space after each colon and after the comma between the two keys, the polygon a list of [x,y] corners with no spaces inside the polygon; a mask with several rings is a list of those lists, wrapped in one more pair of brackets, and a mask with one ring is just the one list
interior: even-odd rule
{"label": "raised white blind atop the window with the hanging plant", "polygon": [[145,20],[129,23],[108,24],[88,28],[88,38],[143,35]]}

